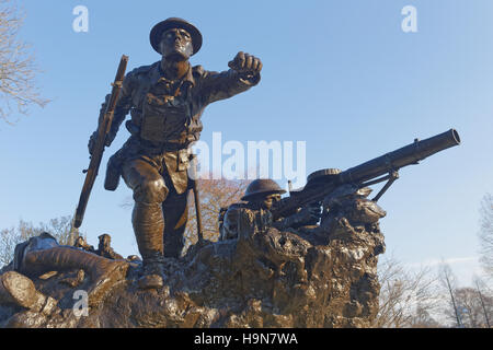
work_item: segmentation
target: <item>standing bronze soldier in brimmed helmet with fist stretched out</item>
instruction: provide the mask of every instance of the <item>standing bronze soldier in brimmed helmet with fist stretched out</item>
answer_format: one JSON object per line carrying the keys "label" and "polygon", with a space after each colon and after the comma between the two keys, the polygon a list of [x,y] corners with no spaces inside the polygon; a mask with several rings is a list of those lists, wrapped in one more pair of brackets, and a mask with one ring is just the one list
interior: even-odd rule
{"label": "standing bronze soldier in brimmed helmet with fist stretched out", "polygon": [[[160,61],[126,74],[106,137],[108,147],[128,112],[131,133],[108,161],[104,187],[115,190],[122,176],[134,191],[131,223],[142,256],[141,288],[162,285],[164,257],[180,257],[187,221],[188,148],[203,129],[204,108],[249,90],[260,81],[260,59],[238,52],[229,70],[210,72],[188,62],[202,46],[200,32],[171,18],[150,32]],[[108,103],[103,104],[102,113]],[[100,115],[101,121],[101,115]],[[96,132],[89,141],[92,154]]]}

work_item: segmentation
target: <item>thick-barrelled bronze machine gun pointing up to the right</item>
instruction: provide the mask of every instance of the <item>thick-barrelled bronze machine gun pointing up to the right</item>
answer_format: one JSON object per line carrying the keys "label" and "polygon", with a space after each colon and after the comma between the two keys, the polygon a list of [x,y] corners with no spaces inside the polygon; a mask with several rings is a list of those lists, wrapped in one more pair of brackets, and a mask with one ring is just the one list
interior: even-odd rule
{"label": "thick-barrelled bronze machine gun pointing up to the right", "polygon": [[290,191],[289,197],[274,203],[271,212],[274,220],[277,220],[290,215],[302,206],[322,201],[342,185],[352,185],[358,189],[387,180],[387,184],[372,199],[377,201],[399,178],[401,167],[419,164],[425,158],[459,143],[459,133],[455,129],[450,129],[422,141],[415,139],[411,144],[351,167],[345,172],[339,170],[314,172],[308,176],[307,185],[302,189]]}

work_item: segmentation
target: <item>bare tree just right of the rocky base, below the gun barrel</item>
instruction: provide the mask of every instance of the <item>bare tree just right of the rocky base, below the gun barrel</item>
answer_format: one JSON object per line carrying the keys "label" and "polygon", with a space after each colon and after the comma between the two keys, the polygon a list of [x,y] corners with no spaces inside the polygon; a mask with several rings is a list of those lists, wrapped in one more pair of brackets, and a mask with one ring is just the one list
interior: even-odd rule
{"label": "bare tree just right of the rocky base, below the gun barrel", "polygon": [[378,278],[381,289],[374,327],[439,327],[431,316],[436,311],[438,298],[436,277],[431,268],[406,270],[391,256],[379,261]]}

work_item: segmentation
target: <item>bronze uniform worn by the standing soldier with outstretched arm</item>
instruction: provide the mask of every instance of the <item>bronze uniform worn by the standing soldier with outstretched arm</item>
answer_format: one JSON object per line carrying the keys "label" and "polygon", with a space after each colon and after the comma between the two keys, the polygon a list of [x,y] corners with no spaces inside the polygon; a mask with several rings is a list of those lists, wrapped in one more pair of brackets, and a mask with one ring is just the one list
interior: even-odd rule
{"label": "bronze uniform worn by the standing soldier with outstretched arm", "polygon": [[205,107],[244,92],[259,81],[260,74],[246,75],[231,69],[210,72],[202,66],[190,66],[184,78],[173,81],[164,77],[160,61],[134,69],[125,77],[106,144],[128,113],[131,119],[125,126],[131,136],[111,158],[105,188],[114,190],[122,175],[133,189],[133,225],[145,262],[160,261],[163,254],[179,257],[183,248],[188,148],[199,139]]}

